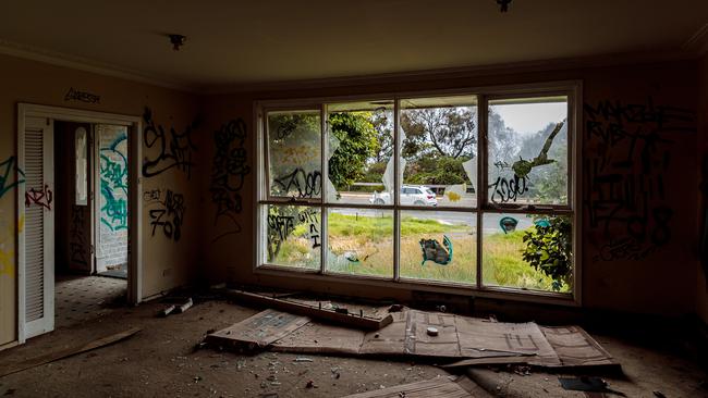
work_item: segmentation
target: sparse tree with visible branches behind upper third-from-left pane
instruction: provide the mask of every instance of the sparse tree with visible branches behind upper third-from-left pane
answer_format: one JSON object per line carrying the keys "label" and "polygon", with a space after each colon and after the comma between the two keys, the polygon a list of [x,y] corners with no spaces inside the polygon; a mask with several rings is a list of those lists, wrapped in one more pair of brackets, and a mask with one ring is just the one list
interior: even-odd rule
{"label": "sparse tree with visible branches behind upper third-from-left pane", "polygon": [[474,156],[477,142],[475,113],[469,107],[424,108],[401,112],[401,127],[406,135],[403,156]]}

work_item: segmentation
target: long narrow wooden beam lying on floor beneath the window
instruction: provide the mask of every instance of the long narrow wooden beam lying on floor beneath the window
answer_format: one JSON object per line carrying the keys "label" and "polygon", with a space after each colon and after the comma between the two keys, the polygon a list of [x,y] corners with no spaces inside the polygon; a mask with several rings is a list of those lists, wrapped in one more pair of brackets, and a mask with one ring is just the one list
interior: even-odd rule
{"label": "long narrow wooden beam lying on floor beneath the window", "polygon": [[257,295],[248,291],[227,290],[224,294],[234,300],[251,302],[258,306],[266,306],[268,308],[276,308],[281,311],[292,312],[320,321],[334,322],[341,325],[356,328],[378,331],[381,327],[393,322],[393,318],[391,318],[390,314],[378,319],[361,314],[341,313],[330,309],[320,309],[316,306],[308,306],[301,302]]}

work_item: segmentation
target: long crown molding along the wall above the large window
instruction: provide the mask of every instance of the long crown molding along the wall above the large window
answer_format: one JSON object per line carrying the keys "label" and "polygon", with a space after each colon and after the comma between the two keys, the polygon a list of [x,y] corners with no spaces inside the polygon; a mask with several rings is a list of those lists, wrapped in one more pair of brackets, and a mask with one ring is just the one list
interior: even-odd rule
{"label": "long crown molding along the wall above the large window", "polygon": [[[708,29],[707,29],[708,30]],[[582,70],[593,67],[622,66],[633,64],[651,64],[672,61],[685,61],[699,58],[696,51],[687,49],[674,51],[645,51],[630,53],[609,53],[590,57],[559,58],[513,63],[487,64],[478,66],[447,67],[411,72],[394,72],[374,75],[243,83],[202,88],[204,95],[229,95],[243,92],[268,92],[285,90],[307,90],[331,87],[356,87],[376,84],[396,84],[411,80],[439,80],[455,78],[472,78],[480,76],[499,76],[509,74],[528,74],[563,70]]]}

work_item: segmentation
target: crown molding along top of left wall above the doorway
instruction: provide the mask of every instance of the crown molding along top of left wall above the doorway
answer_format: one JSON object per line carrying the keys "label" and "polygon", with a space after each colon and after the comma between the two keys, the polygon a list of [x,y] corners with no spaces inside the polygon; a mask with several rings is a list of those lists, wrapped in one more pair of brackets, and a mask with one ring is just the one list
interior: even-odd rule
{"label": "crown molding along top of left wall above the doorway", "polygon": [[19,42],[5,40],[0,38],[0,54],[11,55],[15,58],[42,62],[51,65],[69,67],[84,72],[90,72],[98,75],[118,77],[125,80],[145,83],[163,88],[170,88],[180,91],[198,94],[198,89],[179,82],[166,80],[163,77],[158,77],[150,73],[143,71],[115,66],[112,64],[71,55],[59,51],[48,50],[39,47],[21,45]]}

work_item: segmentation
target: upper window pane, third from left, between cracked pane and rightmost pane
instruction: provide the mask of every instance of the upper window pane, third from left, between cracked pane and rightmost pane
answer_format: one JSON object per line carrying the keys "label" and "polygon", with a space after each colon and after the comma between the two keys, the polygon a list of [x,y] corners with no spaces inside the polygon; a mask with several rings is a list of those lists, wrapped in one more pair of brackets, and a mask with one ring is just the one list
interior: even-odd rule
{"label": "upper window pane, third from left, between cracked pane and rightmost pane", "polygon": [[476,207],[477,97],[401,101],[401,204]]}

